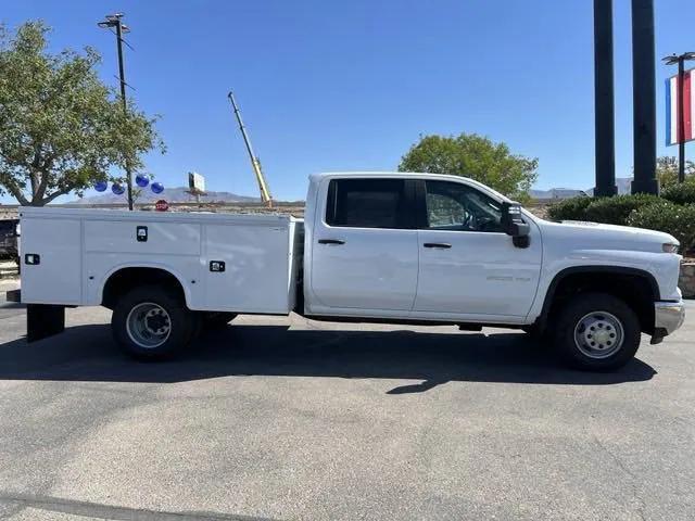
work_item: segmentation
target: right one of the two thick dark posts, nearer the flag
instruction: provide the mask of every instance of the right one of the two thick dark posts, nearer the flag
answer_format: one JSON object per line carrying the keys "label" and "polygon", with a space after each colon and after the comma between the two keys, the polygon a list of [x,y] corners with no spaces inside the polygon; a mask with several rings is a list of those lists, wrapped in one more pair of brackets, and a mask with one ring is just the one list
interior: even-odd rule
{"label": "right one of the two thick dark posts, nearer the flag", "polygon": [[659,193],[656,180],[654,0],[632,0],[634,180],[632,193]]}

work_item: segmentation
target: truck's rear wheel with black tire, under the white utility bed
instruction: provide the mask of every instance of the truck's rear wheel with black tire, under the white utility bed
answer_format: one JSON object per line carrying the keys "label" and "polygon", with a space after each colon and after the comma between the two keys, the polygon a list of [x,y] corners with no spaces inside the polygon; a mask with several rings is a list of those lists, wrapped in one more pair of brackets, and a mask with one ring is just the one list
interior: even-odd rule
{"label": "truck's rear wheel with black tire, under the white utility bed", "polygon": [[[155,312],[153,317],[147,318],[148,309]],[[138,319],[138,316],[146,318]],[[153,320],[157,323],[152,325]],[[166,332],[151,334],[152,328],[160,326],[155,331]],[[193,335],[193,314],[186,303],[157,285],[144,285],[126,293],[111,317],[116,343],[129,355],[146,360],[164,359],[184,348]],[[148,334],[152,336],[151,345],[144,345]]]}

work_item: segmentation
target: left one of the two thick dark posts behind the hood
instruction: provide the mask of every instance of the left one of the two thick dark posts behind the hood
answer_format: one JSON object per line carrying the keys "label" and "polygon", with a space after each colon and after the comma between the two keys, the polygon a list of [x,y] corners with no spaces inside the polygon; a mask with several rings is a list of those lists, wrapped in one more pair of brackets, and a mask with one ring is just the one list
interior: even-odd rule
{"label": "left one of the two thick dark posts behind the hood", "polygon": [[612,0],[594,0],[594,196],[599,198],[617,193],[612,55]]}

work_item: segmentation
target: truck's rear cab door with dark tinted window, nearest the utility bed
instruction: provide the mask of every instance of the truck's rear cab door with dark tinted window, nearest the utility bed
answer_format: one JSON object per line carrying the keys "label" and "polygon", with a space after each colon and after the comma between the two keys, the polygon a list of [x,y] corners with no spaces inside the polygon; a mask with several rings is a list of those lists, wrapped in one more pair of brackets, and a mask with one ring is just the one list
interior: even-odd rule
{"label": "truck's rear cab door with dark tinted window, nearest the utility bed", "polygon": [[325,181],[311,246],[312,314],[409,313],[418,275],[414,193],[414,181],[397,178]]}

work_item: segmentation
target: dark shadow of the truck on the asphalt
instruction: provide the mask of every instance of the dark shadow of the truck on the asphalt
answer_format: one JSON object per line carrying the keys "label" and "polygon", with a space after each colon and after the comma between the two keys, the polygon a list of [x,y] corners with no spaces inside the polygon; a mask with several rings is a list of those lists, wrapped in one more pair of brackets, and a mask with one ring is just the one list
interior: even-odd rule
{"label": "dark shadow of the truck on the asphalt", "polygon": [[611,373],[564,368],[520,332],[441,334],[413,331],[288,329],[229,326],[161,363],[121,353],[108,326],[77,326],[27,344],[0,344],[0,379],[181,382],[228,376],[422,380],[389,394],[426,392],[450,381],[605,385],[649,380],[634,359]]}

